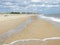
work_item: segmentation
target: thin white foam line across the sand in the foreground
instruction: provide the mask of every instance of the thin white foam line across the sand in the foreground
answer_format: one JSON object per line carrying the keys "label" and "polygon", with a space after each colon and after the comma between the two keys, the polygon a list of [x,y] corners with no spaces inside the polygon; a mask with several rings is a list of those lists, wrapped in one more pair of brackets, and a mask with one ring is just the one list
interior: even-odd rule
{"label": "thin white foam line across the sand in the foreground", "polygon": [[28,42],[28,41],[40,41],[41,44],[43,45],[48,40],[60,40],[60,37],[49,37],[49,38],[44,38],[44,39],[21,39],[21,40],[16,40],[16,41],[13,41],[9,44],[3,44],[3,45],[13,45],[17,42],[23,42],[24,43],[24,42]]}

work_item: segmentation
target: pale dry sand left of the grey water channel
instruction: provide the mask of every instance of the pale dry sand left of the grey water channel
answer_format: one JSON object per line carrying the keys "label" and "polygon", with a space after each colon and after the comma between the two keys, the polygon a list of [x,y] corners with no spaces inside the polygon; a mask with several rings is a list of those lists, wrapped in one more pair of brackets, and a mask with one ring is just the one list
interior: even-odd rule
{"label": "pale dry sand left of the grey water channel", "polygon": [[16,28],[18,25],[26,21],[28,18],[29,18],[28,15],[25,16],[25,15],[17,15],[17,14],[15,15],[0,14],[0,34]]}

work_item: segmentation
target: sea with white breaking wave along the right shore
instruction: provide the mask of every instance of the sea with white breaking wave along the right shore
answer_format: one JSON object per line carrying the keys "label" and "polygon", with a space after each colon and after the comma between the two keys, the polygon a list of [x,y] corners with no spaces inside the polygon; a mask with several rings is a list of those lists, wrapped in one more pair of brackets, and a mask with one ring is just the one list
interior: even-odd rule
{"label": "sea with white breaking wave along the right shore", "polygon": [[38,18],[47,20],[48,22],[60,27],[60,15],[39,15]]}

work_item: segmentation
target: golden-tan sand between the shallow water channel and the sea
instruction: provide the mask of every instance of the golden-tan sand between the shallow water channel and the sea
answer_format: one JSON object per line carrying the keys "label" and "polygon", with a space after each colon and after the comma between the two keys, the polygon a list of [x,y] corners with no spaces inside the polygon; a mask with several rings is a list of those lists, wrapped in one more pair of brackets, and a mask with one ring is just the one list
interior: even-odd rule
{"label": "golden-tan sand between the shallow water channel and the sea", "polygon": [[19,39],[43,39],[47,37],[60,37],[60,29],[43,19],[34,18],[34,21],[22,32],[14,34],[6,39],[4,43]]}

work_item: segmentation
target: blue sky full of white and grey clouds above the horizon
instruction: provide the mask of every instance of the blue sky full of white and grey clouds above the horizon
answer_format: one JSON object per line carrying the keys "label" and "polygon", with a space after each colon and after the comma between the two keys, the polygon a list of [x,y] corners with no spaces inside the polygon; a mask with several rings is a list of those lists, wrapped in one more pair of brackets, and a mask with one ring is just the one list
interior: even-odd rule
{"label": "blue sky full of white and grey clouds above the horizon", "polygon": [[0,12],[60,14],[60,0],[0,0]]}

